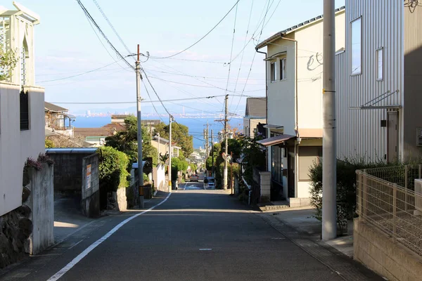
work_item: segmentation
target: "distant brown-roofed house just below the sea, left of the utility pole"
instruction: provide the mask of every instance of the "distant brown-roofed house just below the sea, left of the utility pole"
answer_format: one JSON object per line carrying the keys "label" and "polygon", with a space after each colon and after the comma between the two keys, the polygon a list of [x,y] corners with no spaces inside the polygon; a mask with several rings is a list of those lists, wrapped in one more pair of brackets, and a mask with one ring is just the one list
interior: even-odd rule
{"label": "distant brown-roofed house just below the sea, left of the utility pole", "polygon": [[119,131],[126,130],[120,123],[111,123],[99,128],[75,128],[75,137],[82,138],[87,143],[95,146],[102,146],[106,143],[108,136],[113,136]]}

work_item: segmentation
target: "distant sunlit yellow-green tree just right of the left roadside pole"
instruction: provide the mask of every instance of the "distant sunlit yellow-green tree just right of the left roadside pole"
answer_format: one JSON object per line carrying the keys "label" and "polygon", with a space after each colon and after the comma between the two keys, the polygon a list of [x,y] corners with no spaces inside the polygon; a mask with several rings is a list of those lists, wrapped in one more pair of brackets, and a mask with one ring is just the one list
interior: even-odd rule
{"label": "distant sunlit yellow-green tree just right of the left roadside pole", "polygon": [[[155,133],[160,133],[162,138],[169,138],[170,125],[161,122],[155,126]],[[193,136],[189,136],[187,126],[172,123],[172,142],[177,143],[184,152],[184,155],[191,155],[193,152]]]}

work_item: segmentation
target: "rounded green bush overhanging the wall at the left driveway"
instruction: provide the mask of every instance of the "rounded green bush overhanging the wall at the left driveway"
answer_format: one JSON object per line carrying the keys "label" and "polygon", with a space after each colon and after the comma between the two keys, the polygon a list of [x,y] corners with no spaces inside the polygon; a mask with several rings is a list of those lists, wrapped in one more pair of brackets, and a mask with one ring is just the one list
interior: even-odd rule
{"label": "rounded green bush overhanging the wall at the left driveway", "polygon": [[106,186],[108,192],[117,191],[117,188],[127,188],[129,159],[124,152],[104,146],[98,150],[99,178],[101,185]]}

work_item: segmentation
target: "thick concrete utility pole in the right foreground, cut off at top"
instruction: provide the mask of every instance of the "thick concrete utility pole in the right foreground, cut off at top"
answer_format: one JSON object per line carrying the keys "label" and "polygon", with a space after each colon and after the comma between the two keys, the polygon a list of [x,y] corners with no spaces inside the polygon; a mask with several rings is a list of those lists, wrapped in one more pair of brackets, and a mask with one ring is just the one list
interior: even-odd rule
{"label": "thick concrete utility pole in the right foreground, cut off at top", "polygon": [[324,134],[322,139],[322,240],[337,236],[335,130],[335,11],[324,0]]}

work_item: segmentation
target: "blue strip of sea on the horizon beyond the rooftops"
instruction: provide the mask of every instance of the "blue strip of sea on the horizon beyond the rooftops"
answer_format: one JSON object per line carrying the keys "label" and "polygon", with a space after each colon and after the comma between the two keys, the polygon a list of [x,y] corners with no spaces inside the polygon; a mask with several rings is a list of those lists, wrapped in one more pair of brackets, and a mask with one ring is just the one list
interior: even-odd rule
{"label": "blue strip of sea on the horizon beyond the rooftops", "polygon": [[[148,118],[153,119],[153,118]],[[157,118],[158,119],[158,118]],[[193,136],[193,148],[204,148],[205,141],[203,138],[203,131],[207,126],[208,122],[208,129],[211,136],[211,129],[214,131],[214,139],[215,141],[218,140],[218,132],[222,131],[224,128],[224,122],[216,122],[215,119],[217,117],[175,117],[177,123],[185,125],[189,129],[189,135]],[[75,122],[73,122],[72,126],[77,128],[98,128],[104,126],[106,124],[111,123],[111,117],[83,117],[77,116]],[[169,122],[165,122],[168,124]],[[231,119],[229,122],[232,128],[237,127],[241,129],[243,127],[243,120],[242,119]]]}

